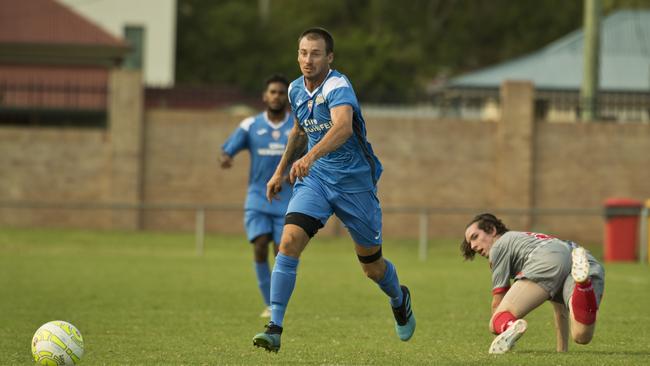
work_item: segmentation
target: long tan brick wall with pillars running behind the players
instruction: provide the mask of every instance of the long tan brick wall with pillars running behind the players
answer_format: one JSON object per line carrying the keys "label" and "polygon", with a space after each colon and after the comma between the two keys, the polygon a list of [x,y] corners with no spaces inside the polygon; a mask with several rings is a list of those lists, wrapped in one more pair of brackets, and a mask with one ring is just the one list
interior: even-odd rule
{"label": "long tan brick wall with pillars running behind the players", "polygon": [[[0,128],[0,201],[242,207],[248,156],[230,170],[217,156],[245,116],[142,110],[137,74],[111,76],[108,131]],[[613,196],[650,197],[650,125],[535,123],[529,83],[508,83],[499,122],[368,118],[384,164],[379,195],[386,237],[416,237],[417,213],[398,207],[523,209],[513,229],[598,243],[600,216],[532,216],[533,208],[597,208]],[[433,214],[429,233],[460,239],[473,212]],[[0,225],[192,230],[192,210],[0,209]],[[208,231],[242,233],[242,212],[206,214]],[[343,231],[336,222],[326,234]]]}

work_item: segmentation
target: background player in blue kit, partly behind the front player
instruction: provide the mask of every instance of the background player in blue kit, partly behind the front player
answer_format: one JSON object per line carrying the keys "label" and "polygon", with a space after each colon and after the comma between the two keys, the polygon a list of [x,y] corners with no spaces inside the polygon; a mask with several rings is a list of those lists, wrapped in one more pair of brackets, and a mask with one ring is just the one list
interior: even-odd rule
{"label": "background player in blue kit, partly behind the front player", "polygon": [[273,176],[287,144],[293,116],[287,111],[289,81],[281,75],[266,80],[262,99],[266,111],[243,120],[222,146],[221,167],[230,168],[233,157],[241,150],[250,152],[248,195],[244,206],[244,224],[248,240],[253,243],[257,284],[266,306],[260,315],[271,316],[271,271],[268,263],[269,243],[277,254],[284,214],[291,197],[291,186],[281,183],[282,192],[273,202],[266,200],[266,183]]}

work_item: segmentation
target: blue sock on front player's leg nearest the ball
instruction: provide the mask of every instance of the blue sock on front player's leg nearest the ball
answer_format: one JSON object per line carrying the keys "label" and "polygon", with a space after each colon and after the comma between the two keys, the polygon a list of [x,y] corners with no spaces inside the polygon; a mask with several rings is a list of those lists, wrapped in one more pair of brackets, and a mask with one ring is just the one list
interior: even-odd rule
{"label": "blue sock on front player's leg nearest the ball", "polygon": [[[271,322],[282,326],[289,298],[296,285],[298,258],[278,253],[271,276]],[[398,287],[399,288],[399,287]]]}

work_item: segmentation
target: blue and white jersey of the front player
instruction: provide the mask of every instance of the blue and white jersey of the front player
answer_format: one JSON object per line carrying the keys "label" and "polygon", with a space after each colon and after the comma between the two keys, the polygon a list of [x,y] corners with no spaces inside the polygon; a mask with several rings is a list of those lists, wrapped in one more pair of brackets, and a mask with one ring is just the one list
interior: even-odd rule
{"label": "blue and white jersey of the front player", "polygon": [[366,123],[348,78],[330,70],[323,83],[310,93],[301,76],[289,85],[288,94],[291,109],[309,138],[309,149],[332,128],[331,108],[344,104],[352,107],[353,135],[338,149],[316,160],[309,175],[343,192],[374,190],[382,166],[366,139]]}

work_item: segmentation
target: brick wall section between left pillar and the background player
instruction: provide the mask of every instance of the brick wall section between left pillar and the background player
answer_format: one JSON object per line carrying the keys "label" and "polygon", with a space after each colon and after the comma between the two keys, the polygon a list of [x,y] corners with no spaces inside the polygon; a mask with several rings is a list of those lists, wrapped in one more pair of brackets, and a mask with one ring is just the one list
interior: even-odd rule
{"label": "brick wall section between left pillar and the background player", "polygon": [[[217,164],[220,144],[239,119],[214,111],[150,110],[146,114],[144,201],[151,204],[227,205],[243,207],[248,155],[235,159],[232,169]],[[194,228],[195,212],[148,210],[146,229]],[[208,211],[206,230],[240,233],[240,211]]]}

